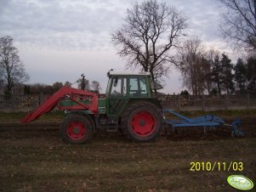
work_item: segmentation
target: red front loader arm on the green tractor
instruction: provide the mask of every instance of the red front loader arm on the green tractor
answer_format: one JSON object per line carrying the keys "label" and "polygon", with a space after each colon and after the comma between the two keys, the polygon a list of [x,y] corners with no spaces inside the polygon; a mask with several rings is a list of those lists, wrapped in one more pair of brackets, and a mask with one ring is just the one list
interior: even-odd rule
{"label": "red front loader arm on the green tractor", "polygon": [[[98,113],[98,96],[95,93],[91,93],[88,91],[80,90],[77,88],[69,88],[63,87],[56,93],[54,93],[51,97],[43,102],[43,104],[39,105],[36,110],[27,114],[21,122],[27,123],[36,120],[39,116],[48,113],[53,110],[56,104],[59,103],[60,99],[67,96],[72,101],[76,102],[78,105],[74,105],[71,107],[60,107],[60,109],[70,109],[70,110],[91,110],[94,115]],[[77,100],[77,98],[85,99],[87,97],[91,98],[90,104],[82,104]]]}

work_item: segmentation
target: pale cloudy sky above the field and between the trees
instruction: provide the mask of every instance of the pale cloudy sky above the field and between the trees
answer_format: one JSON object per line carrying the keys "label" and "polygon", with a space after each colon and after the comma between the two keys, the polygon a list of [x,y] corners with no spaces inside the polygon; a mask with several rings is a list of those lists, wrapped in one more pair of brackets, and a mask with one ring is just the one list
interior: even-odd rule
{"label": "pale cloudy sky above the field and between the trees", "polygon": [[[76,82],[84,73],[88,80],[100,82],[100,92],[105,93],[107,71],[129,71],[126,60],[117,55],[117,48],[111,44],[111,33],[122,26],[127,8],[136,2],[0,0],[0,37],[14,37],[14,46],[30,76],[28,83]],[[220,7],[215,0],[166,3],[187,16],[188,37],[199,37],[208,48],[236,58],[220,37]],[[179,93],[184,89],[179,71],[172,69],[161,92]]]}

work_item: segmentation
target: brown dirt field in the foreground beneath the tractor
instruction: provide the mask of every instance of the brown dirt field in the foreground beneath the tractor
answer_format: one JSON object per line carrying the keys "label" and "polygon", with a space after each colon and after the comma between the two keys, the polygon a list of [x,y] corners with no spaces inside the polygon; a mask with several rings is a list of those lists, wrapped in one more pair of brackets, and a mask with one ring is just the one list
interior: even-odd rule
{"label": "brown dirt field in the foreground beneath the tractor", "polygon": [[84,145],[62,143],[58,123],[2,124],[0,190],[237,191],[232,174],[256,184],[255,122],[243,120],[245,138],[183,128],[147,144],[101,132]]}

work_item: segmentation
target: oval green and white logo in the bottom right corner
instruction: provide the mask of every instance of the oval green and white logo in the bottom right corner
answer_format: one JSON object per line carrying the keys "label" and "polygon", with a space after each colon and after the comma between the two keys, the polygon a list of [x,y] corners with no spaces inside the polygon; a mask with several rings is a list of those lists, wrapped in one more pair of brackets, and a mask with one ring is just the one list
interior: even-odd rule
{"label": "oval green and white logo in the bottom right corner", "polygon": [[235,189],[253,189],[253,181],[242,175],[230,175],[230,177],[227,178],[227,182]]}

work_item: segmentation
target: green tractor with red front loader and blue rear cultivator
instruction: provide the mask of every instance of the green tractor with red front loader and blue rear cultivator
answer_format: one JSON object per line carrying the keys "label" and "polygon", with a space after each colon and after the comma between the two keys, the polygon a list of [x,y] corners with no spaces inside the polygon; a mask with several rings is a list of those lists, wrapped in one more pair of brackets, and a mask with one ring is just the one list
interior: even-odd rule
{"label": "green tractor with red front loader and blue rear cultivator", "polygon": [[[150,142],[157,138],[166,124],[177,131],[178,127],[222,127],[225,121],[218,116],[188,118],[173,110],[163,109],[161,102],[152,96],[151,90],[161,87],[151,81],[149,72],[109,71],[108,86],[104,99],[96,93],[63,87],[39,105],[21,121],[28,123],[53,110],[58,104],[66,117],[61,123],[62,140],[67,144],[85,144],[99,129],[122,132],[134,142]],[[168,120],[164,113],[179,119]],[[241,121],[231,125],[233,136],[244,136]]]}

